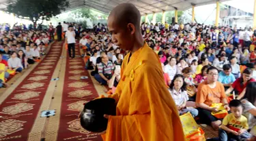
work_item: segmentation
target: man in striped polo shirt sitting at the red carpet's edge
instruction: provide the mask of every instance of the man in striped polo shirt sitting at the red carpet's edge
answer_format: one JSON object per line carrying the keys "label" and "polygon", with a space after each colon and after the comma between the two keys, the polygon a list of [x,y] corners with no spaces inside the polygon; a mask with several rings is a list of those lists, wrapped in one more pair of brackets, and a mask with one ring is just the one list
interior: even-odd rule
{"label": "man in striped polo shirt sitting at the red carpet's edge", "polygon": [[106,85],[109,84],[115,66],[109,61],[109,57],[106,54],[101,57],[101,60],[102,62],[97,64],[98,74],[95,74],[94,77],[99,83]]}

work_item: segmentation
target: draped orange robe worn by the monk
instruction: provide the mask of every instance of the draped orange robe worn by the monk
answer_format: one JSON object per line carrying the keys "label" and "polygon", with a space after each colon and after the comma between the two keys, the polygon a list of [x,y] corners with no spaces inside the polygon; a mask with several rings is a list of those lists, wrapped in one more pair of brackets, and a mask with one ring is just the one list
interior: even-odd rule
{"label": "draped orange robe worn by the monk", "polygon": [[115,98],[116,116],[109,117],[106,141],[183,141],[177,108],[162,75],[158,56],[147,43],[129,53],[122,64]]}

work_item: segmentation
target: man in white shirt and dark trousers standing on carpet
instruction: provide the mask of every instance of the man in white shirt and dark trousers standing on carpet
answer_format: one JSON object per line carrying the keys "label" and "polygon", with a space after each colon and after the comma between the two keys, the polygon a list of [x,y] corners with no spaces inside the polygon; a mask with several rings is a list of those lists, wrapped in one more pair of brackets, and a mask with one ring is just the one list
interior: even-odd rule
{"label": "man in white shirt and dark trousers standing on carpet", "polygon": [[[74,33],[74,29],[73,26],[70,25],[68,26],[68,31],[66,32],[66,42],[68,43],[68,54],[71,58],[74,58],[74,45],[76,43],[76,39],[74,39],[74,37],[76,37],[76,33]],[[72,49],[72,56],[71,56],[71,49]]]}

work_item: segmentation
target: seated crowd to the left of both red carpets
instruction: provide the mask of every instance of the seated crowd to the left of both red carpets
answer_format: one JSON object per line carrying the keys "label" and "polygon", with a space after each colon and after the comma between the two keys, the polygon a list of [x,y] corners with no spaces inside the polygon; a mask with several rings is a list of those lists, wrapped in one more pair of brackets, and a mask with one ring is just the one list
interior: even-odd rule
{"label": "seated crowd to the left of both red carpets", "polygon": [[40,61],[52,41],[48,31],[27,30],[23,26],[13,28],[6,24],[0,29],[0,87],[7,87],[10,75],[23,72],[31,64]]}

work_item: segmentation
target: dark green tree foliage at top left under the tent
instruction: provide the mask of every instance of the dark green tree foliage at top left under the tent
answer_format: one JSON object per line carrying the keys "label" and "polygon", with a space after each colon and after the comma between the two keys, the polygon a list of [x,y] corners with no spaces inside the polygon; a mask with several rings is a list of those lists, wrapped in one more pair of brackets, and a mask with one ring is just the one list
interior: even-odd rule
{"label": "dark green tree foliage at top left under the tent", "polygon": [[68,0],[16,0],[10,2],[6,10],[18,18],[31,20],[35,25],[38,20],[50,20],[61,14],[69,5]]}

